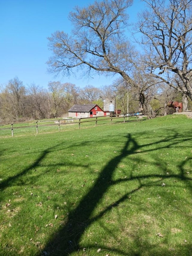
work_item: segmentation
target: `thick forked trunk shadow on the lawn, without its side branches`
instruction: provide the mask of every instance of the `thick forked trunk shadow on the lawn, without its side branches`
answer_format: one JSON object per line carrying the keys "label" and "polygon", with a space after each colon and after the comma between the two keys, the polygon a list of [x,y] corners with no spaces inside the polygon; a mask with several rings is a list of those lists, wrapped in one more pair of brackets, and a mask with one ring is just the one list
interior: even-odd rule
{"label": "thick forked trunk shadow on the lawn, without its side branches", "polygon": [[[128,150],[128,146],[131,143],[133,146]],[[49,241],[47,244],[48,248],[45,248],[45,251],[49,251],[55,255],[70,255],[70,253],[79,250],[79,242],[82,233],[95,221],[95,219],[90,218],[91,213],[109,188],[116,165],[122,158],[137,148],[139,148],[139,146],[129,134],[121,153],[105,165],[93,187],[88,191],[85,197],[82,198],[76,209],[69,213],[68,222],[59,231],[57,236]]]}

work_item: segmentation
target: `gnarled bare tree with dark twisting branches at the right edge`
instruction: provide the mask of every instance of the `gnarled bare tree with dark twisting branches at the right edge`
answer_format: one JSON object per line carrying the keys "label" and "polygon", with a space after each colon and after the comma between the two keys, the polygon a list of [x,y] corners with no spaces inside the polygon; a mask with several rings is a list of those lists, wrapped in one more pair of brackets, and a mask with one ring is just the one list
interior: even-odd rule
{"label": "gnarled bare tree with dark twisting branches at the right edge", "polygon": [[[192,100],[192,1],[143,0],[149,7],[140,14],[151,74]],[[167,5],[168,3],[168,5]],[[172,83],[173,77],[179,83]],[[184,110],[187,104],[184,104]]]}

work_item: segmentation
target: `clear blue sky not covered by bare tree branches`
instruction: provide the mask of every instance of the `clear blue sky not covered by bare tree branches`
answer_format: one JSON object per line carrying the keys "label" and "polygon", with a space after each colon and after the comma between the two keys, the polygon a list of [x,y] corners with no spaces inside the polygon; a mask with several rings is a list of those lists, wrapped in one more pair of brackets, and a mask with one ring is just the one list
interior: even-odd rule
{"label": "clear blue sky not covered by bare tree branches", "polygon": [[[83,3],[82,3],[83,2]],[[48,40],[52,33],[62,30],[70,34],[68,14],[73,8],[86,6],[94,0],[0,0],[0,85],[18,77],[24,85],[35,83],[47,88],[49,81],[73,83],[79,87],[110,85],[114,78],[96,76],[94,79],[57,77],[47,74],[46,62],[51,56]],[[134,22],[141,2],[135,0],[129,8]]]}

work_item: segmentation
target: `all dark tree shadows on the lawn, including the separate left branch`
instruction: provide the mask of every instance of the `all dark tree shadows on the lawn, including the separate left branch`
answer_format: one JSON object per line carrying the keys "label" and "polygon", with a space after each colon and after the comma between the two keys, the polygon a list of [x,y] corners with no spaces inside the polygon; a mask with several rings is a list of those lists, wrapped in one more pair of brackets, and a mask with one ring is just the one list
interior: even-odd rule
{"label": "all dark tree shadows on the lawn, including the separate left branch", "polygon": [[[70,254],[78,254],[79,249],[82,249],[79,245],[81,241],[82,235],[85,233],[86,229],[95,221],[99,220],[106,212],[109,212],[112,208],[117,207],[120,203],[124,202],[129,198],[131,194],[134,194],[135,192],[141,190],[143,186],[155,186],[155,182],[151,182],[150,184],[143,184],[140,182],[141,179],[148,179],[152,177],[156,178],[164,178],[164,177],[174,177],[181,179],[185,182],[190,181],[191,179],[188,179],[186,175],[184,174],[184,165],[187,163],[187,161],[191,161],[191,158],[185,159],[179,166],[180,173],[178,175],[171,174],[169,176],[165,175],[166,170],[164,170],[163,174],[146,174],[146,175],[131,175],[129,178],[124,179],[113,179],[113,174],[116,169],[116,166],[126,157],[130,155],[135,155],[143,150],[143,152],[152,152],[155,149],[163,149],[163,148],[171,148],[172,146],[176,146],[178,142],[185,142],[187,140],[190,140],[191,136],[188,135],[185,138],[182,138],[175,132],[171,137],[168,139],[157,139],[156,142],[145,144],[145,145],[139,145],[134,138],[128,134],[125,136],[125,143],[120,151],[119,155],[112,158],[104,168],[101,170],[101,173],[98,176],[98,179],[95,181],[92,188],[88,191],[88,193],[82,198],[82,200],[79,202],[79,205],[69,212],[67,222],[58,230],[58,233],[55,234],[48,242],[47,245],[45,245],[44,251],[47,253],[50,253],[50,255],[70,255]],[[169,145],[166,146],[162,145],[162,142],[169,142]],[[99,143],[99,141],[98,141]],[[86,143],[79,144],[77,146],[83,146]],[[161,146],[159,146],[161,144]],[[153,149],[150,148],[150,146],[153,145]],[[6,187],[10,186],[14,183],[14,181],[24,175],[26,175],[29,171],[31,171],[33,168],[38,167],[39,163],[46,157],[47,154],[49,154],[52,150],[56,150],[58,146],[61,146],[61,144],[53,146],[51,148],[48,148],[44,150],[41,155],[36,159],[36,161],[29,166],[28,168],[24,169],[22,172],[18,173],[15,176],[9,177],[5,181],[1,182],[1,190],[5,189]],[[149,149],[146,147],[149,146]],[[136,159],[137,160],[137,159]],[[138,159],[139,161],[139,159]],[[158,160],[157,160],[158,164]],[[36,176],[37,178],[37,176]],[[101,210],[98,215],[92,217],[93,211],[96,209],[98,203],[103,199],[104,195],[108,191],[108,189],[112,185],[120,184],[121,182],[127,182],[127,181],[134,181],[138,180],[139,185],[135,189],[129,189],[128,192],[119,197],[118,200],[115,202],[107,205],[105,209]],[[191,189],[190,183],[188,183],[189,188]],[[139,234],[138,234],[139,237]],[[136,242],[138,242],[138,247],[144,246],[144,242],[141,239],[137,239],[135,237]],[[147,244],[148,248],[150,248],[151,245],[148,244],[147,241],[145,241],[145,244]],[[94,245],[92,245],[94,247]],[[91,245],[90,245],[91,248]],[[147,248],[147,247],[145,247]],[[103,247],[103,249],[105,249]],[[113,251],[115,255],[142,255],[142,248],[141,248],[141,254],[138,254],[138,252],[130,252],[129,254],[125,253],[125,251],[117,248],[108,248],[106,247],[106,250]],[[179,248],[178,248],[179,250]],[[144,251],[143,251],[144,253]],[[85,254],[86,255],[86,254]],[[158,254],[156,254],[158,255]],[[166,255],[166,254],[159,254],[159,255]],[[169,255],[169,254],[167,254]],[[176,254],[175,254],[176,255]],[[182,254],[181,254],[182,255]]]}

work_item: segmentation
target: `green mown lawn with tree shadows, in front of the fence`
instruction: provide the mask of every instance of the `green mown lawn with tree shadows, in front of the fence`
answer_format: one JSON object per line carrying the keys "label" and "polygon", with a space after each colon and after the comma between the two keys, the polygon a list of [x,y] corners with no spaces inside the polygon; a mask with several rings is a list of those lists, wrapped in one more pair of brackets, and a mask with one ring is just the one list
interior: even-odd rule
{"label": "green mown lawn with tree shadows, in front of the fence", "polygon": [[2,136],[0,255],[192,255],[191,124]]}

